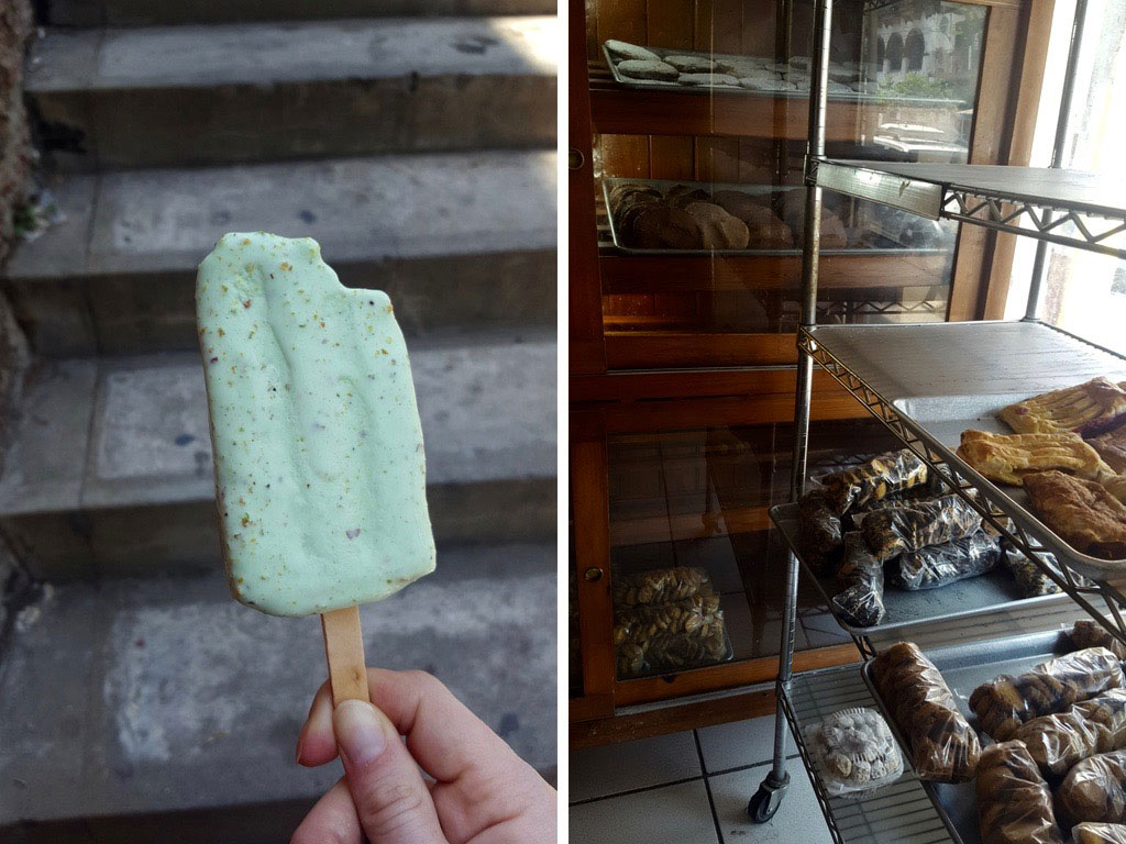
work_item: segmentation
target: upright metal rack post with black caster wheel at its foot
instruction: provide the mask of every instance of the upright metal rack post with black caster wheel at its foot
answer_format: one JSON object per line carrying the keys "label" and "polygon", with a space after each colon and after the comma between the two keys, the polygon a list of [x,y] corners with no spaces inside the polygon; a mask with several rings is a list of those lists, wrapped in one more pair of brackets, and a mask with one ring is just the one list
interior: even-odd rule
{"label": "upright metal rack post with black caster wheel at its foot", "polygon": [[[797,501],[805,487],[805,463],[810,439],[810,404],[813,398],[813,358],[801,342],[803,329],[817,321],[817,264],[821,257],[821,188],[808,178],[816,160],[825,154],[825,93],[829,87],[829,36],[832,27],[832,0],[816,0],[813,24],[813,72],[810,74],[810,136],[805,149],[805,231],[802,242],[802,315],[797,343],[797,389],[794,397],[794,460],[790,499]],[[797,557],[786,563],[786,592],[781,617],[781,644],[778,653],[778,681],[775,688],[774,764],[747,812],[756,823],[774,817],[781,805],[789,774],[786,772],[786,715],[789,681],[794,668],[794,625],[797,616]]]}

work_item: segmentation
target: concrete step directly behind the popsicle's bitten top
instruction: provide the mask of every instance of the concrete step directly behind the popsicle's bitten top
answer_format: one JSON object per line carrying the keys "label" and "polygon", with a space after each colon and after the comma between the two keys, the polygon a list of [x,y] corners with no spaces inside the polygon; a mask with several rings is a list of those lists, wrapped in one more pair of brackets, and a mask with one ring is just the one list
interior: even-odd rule
{"label": "concrete step directly behind the popsicle's bitten top", "polygon": [[410,339],[554,326],[555,154],[458,152],[72,174],[6,288],[39,354],[197,348],[195,273],[230,231],[312,236]]}

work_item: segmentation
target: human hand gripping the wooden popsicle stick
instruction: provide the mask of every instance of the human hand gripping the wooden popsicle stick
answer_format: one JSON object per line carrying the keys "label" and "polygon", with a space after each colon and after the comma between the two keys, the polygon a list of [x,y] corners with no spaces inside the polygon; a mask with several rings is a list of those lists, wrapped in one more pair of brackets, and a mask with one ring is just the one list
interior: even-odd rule
{"label": "human hand gripping the wooden popsicle stick", "polygon": [[367,684],[375,706],[346,700],[333,711],[328,683],[313,699],[297,762],[323,765],[339,745],[345,776],[292,844],[555,842],[555,790],[441,682],[368,668]]}

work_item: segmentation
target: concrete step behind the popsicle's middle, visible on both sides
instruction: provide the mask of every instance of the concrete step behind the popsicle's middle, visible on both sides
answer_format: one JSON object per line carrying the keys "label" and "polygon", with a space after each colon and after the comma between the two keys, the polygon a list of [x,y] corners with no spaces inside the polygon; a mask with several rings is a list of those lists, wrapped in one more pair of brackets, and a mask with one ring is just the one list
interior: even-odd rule
{"label": "concrete step behind the popsicle's middle, visible on both sides", "polygon": [[[439,545],[554,536],[554,335],[410,351]],[[0,531],[44,580],[212,568],[213,484],[197,353],[42,361],[0,476]]]}

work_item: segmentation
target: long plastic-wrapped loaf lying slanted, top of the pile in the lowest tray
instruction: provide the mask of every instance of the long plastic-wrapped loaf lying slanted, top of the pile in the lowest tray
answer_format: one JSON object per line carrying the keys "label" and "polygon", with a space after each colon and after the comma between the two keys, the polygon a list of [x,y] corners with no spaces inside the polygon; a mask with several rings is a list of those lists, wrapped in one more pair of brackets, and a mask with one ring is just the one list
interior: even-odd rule
{"label": "long plastic-wrapped loaf lying slanted, top of the pile in the lowest tray", "polygon": [[1042,715],[1126,685],[1118,657],[1106,648],[1085,648],[1049,659],[1019,676],[1002,674],[974,689],[969,707],[982,729],[999,742]]}

